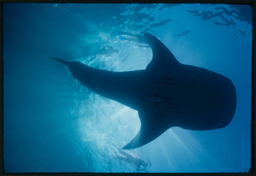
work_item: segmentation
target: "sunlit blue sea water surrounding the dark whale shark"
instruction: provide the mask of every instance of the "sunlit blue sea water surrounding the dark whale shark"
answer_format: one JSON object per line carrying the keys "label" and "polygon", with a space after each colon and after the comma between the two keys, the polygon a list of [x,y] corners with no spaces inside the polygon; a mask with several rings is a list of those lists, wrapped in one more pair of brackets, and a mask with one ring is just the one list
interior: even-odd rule
{"label": "sunlit blue sea water surrounding the dark whale shark", "polygon": [[[151,48],[127,40],[150,32],[183,64],[228,77],[237,109],[222,129],[174,127],[131,154],[142,172],[248,172],[252,9],[200,4],[5,4],[4,169],[6,172],[136,172],[117,159],[137,134],[135,110],[101,97],[51,59],[95,68],[144,69]],[[122,32],[127,32],[123,35]],[[103,46],[111,56],[92,55]]]}

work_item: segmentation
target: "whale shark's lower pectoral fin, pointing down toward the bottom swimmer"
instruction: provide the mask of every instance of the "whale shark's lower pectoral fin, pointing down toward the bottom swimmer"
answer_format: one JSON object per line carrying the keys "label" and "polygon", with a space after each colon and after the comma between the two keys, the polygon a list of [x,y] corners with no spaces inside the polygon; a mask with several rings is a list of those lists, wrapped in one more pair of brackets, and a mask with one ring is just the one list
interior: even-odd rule
{"label": "whale shark's lower pectoral fin, pointing down toward the bottom swimmer", "polygon": [[162,123],[162,117],[152,114],[151,112],[138,112],[140,118],[140,131],[137,135],[122,149],[133,149],[153,141],[168,128]]}

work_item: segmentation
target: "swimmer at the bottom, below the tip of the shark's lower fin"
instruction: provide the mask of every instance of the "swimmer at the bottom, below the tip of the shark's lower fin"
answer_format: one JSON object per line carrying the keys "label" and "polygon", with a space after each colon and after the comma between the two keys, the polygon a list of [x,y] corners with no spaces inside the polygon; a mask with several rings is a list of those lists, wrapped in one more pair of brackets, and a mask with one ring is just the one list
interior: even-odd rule
{"label": "swimmer at the bottom, below the tip of the shark's lower fin", "polygon": [[135,166],[137,166],[136,168],[137,171],[146,170],[147,163],[144,160],[142,160],[141,158],[135,157],[130,153],[123,152],[123,150],[118,146],[116,146],[114,143],[113,145],[118,149],[119,153],[123,155],[123,156],[118,155],[117,152],[114,150],[116,157],[119,160],[134,164]]}

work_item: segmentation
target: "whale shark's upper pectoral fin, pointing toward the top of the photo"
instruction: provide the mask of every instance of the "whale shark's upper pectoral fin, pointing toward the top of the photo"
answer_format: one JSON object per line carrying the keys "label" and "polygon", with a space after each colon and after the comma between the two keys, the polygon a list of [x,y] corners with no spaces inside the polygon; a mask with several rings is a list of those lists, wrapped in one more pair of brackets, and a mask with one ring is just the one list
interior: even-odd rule
{"label": "whale shark's upper pectoral fin, pointing toward the top of the photo", "polygon": [[158,71],[170,69],[174,65],[179,64],[174,55],[160,40],[149,33],[144,33],[144,37],[148,41],[148,44],[150,44],[153,53],[153,58],[147,65],[146,70]]}

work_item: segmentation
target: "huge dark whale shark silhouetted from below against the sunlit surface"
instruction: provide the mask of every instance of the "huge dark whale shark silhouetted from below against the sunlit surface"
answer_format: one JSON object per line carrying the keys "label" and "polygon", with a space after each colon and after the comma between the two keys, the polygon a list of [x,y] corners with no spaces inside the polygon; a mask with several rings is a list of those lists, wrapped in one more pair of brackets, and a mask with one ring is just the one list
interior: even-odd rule
{"label": "huge dark whale shark silhouetted from below against the sunlit surface", "polygon": [[198,131],[226,127],[237,104],[232,82],[216,72],[181,64],[156,37],[143,36],[153,52],[144,70],[113,72],[53,59],[67,65],[83,86],[138,111],[140,130],[123,149],[145,145],[172,127]]}

